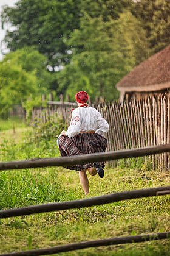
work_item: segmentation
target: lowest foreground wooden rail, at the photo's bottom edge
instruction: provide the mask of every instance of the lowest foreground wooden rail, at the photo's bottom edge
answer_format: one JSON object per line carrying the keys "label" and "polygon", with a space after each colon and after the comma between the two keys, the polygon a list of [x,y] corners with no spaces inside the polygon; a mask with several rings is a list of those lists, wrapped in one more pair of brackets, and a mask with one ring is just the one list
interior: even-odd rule
{"label": "lowest foreground wooden rail, at the photo's bottom edge", "polygon": [[1,254],[0,256],[39,256],[39,255],[50,255],[59,254],[60,252],[69,252],[73,250],[85,249],[90,247],[100,247],[100,246],[112,246],[115,244],[126,244],[126,243],[139,243],[146,241],[155,241],[160,239],[170,238],[170,232],[166,233],[154,233],[151,235],[135,235],[135,236],[124,236],[108,238],[103,240],[94,240],[88,242],[66,244],[63,246],[56,246],[46,249],[37,249],[22,252],[10,252],[7,254]]}

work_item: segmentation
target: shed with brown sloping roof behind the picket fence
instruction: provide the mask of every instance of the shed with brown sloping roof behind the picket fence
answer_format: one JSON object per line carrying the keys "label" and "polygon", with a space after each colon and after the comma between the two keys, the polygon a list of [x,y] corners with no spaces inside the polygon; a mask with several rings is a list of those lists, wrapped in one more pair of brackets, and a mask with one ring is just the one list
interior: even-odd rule
{"label": "shed with brown sloping roof behind the picket fence", "polygon": [[170,45],[141,62],[116,85],[120,101],[170,91]]}

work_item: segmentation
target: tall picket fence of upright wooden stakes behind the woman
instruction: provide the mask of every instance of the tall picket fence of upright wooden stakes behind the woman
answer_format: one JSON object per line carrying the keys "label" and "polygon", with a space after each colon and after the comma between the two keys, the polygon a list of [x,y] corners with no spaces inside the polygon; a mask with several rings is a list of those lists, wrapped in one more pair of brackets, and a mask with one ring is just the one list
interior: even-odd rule
{"label": "tall picket fence of upright wooden stakes behind the woman", "polygon": [[[56,112],[70,124],[70,110],[75,103],[50,105],[47,108],[33,108],[33,121],[38,119],[44,123]],[[169,144],[170,140],[170,96],[160,94],[153,98],[135,100],[131,102],[119,101],[92,104],[103,118],[109,123],[107,151],[143,148],[160,144]],[[169,153],[152,155],[143,158],[143,163],[149,163],[151,169],[168,171],[170,169]],[[124,160],[131,166],[129,160]],[[110,165],[116,166],[118,162],[112,161]]]}

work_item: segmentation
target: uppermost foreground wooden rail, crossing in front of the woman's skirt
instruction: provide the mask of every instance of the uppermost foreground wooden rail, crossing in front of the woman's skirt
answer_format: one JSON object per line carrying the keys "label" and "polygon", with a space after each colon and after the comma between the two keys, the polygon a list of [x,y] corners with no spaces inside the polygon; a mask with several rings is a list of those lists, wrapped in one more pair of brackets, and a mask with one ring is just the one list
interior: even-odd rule
{"label": "uppermost foreground wooden rail, crossing in front of the woman's skirt", "polygon": [[84,163],[102,162],[106,160],[116,160],[121,158],[143,157],[144,155],[170,152],[170,144],[152,146],[147,148],[129,149],[123,151],[110,151],[104,153],[75,155],[73,157],[61,158],[38,158],[23,161],[0,163],[0,171],[7,169],[25,169],[47,166],[68,166],[81,165]]}

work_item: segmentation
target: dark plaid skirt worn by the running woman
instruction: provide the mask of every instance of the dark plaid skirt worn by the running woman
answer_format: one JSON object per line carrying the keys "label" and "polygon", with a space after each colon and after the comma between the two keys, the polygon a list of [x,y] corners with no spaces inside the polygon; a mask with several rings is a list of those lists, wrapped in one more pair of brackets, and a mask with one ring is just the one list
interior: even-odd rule
{"label": "dark plaid skirt worn by the running woman", "polygon": [[[73,155],[92,154],[104,152],[107,148],[107,139],[97,133],[80,133],[73,138],[60,136],[58,138],[61,157],[72,157]],[[104,163],[101,166],[104,168]],[[84,165],[64,166],[66,169],[82,171],[94,166],[94,163]]]}

